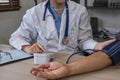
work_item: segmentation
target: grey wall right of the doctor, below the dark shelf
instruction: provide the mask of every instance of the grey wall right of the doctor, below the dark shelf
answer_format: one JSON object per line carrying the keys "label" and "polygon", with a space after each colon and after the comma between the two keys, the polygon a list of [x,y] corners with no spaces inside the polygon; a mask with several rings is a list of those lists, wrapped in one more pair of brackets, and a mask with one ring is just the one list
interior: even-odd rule
{"label": "grey wall right of the doctor, below the dark shelf", "polygon": [[[85,5],[84,1],[80,0],[80,3]],[[120,32],[120,9],[94,8],[88,9],[88,13],[90,17],[98,18],[100,30],[105,28],[111,32]]]}

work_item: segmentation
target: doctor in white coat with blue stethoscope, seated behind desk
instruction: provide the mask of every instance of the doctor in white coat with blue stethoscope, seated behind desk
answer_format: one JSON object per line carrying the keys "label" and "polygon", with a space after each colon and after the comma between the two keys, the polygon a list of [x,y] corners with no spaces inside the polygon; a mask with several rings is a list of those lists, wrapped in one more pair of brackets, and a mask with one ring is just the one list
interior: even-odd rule
{"label": "doctor in white coat with blue stethoscope, seated behind desk", "polygon": [[[31,44],[33,41],[35,43]],[[73,1],[47,0],[27,10],[9,43],[34,54],[45,51],[73,53],[77,46],[100,50],[112,41],[97,43],[92,39],[84,6]]]}

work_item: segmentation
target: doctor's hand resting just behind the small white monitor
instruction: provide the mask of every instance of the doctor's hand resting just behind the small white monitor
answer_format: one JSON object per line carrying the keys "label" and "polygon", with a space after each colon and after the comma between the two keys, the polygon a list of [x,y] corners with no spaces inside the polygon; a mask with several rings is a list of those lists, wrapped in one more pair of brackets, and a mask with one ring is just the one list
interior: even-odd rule
{"label": "doctor's hand resting just behind the small white monitor", "polygon": [[22,46],[22,50],[31,54],[46,51],[45,48],[39,43],[34,43],[33,45],[24,45]]}

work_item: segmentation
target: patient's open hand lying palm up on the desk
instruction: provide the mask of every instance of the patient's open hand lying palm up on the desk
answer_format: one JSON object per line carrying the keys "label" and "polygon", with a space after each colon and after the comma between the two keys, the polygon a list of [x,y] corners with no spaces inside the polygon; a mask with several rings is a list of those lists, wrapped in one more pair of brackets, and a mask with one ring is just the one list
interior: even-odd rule
{"label": "patient's open hand lying palm up on the desk", "polygon": [[67,64],[51,62],[48,64],[39,65],[37,68],[32,68],[30,73],[36,77],[53,80],[68,76],[70,71]]}

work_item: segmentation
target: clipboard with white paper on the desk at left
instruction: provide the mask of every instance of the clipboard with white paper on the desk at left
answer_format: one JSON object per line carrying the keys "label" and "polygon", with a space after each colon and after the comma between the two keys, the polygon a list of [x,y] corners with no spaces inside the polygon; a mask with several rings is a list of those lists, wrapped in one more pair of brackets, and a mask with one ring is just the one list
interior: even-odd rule
{"label": "clipboard with white paper on the desk at left", "polygon": [[33,55],[17,49],[0,51],[0,66],[29,58],[33,58]]}

